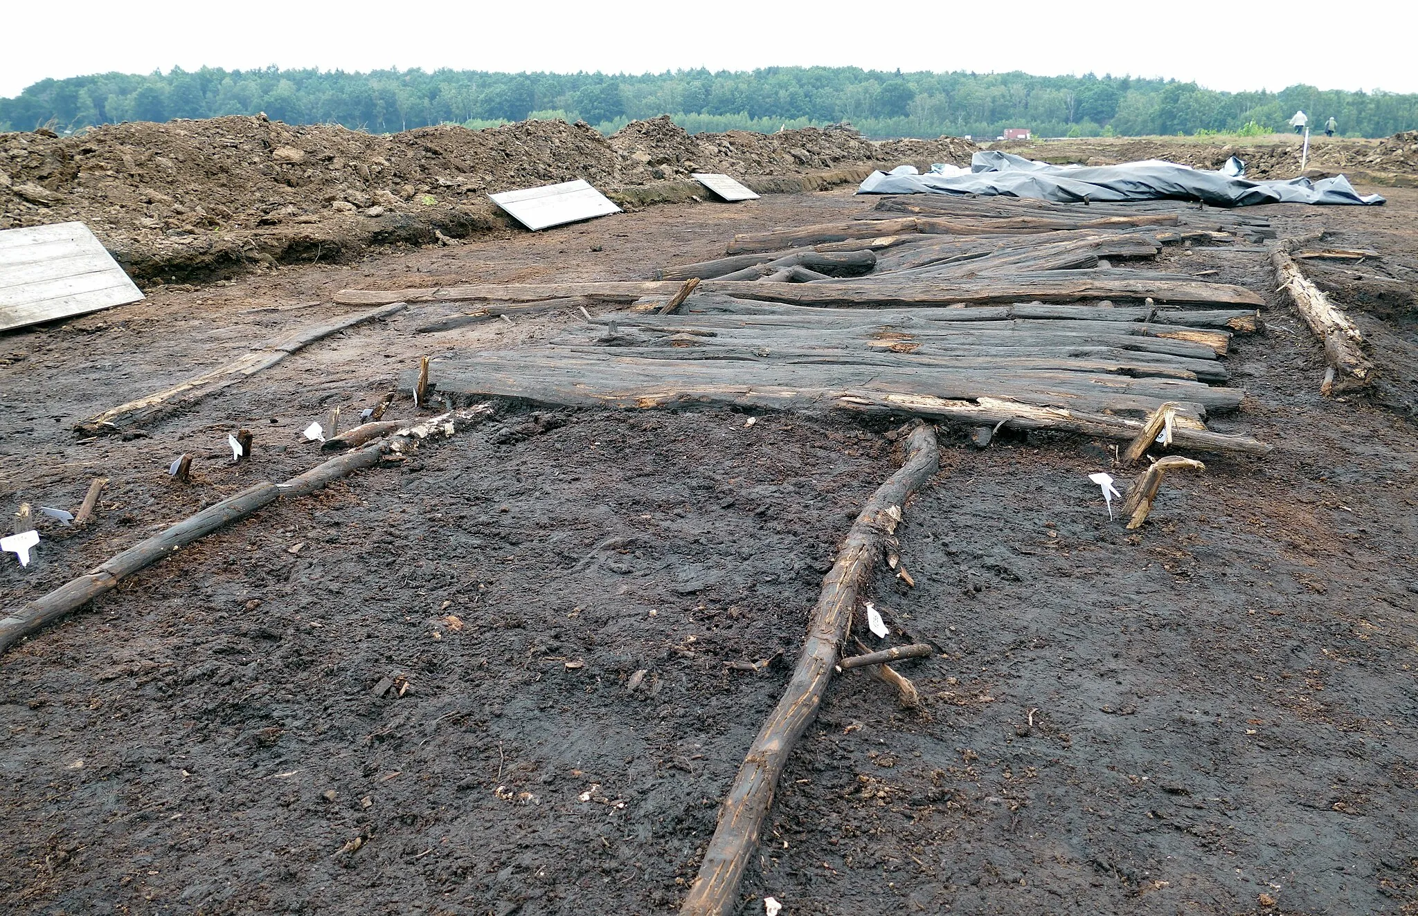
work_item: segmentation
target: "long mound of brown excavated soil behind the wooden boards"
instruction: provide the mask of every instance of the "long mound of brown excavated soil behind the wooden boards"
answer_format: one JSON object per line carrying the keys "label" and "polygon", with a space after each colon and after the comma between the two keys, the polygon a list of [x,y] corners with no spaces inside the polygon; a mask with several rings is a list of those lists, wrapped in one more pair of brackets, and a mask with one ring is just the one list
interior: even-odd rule
{"label": "long mound of brown excavated soil behind the wooden boards", "polygon": [[488,193],[586,179],[603,190],[807,174],[841,163],[968,162],[954,138],[873,143],[848,126],[691,136],[669,118],[614,138],[560,121],[372,135],[264,116],[0,135],[0,228],[82,220],[139,278],[503,225]]}

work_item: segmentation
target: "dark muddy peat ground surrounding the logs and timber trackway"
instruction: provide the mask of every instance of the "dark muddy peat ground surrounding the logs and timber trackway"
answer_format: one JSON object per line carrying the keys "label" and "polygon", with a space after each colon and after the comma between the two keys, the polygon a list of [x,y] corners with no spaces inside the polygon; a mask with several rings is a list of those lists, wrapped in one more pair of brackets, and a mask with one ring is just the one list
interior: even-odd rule
{"label": "dark muddy peat ground surrounding the logs and timber trackway", "polygon": [[[1357,271],[1411,289],[1418,191],[1385,193],[1384,208],[1254,213],[1282,235],[1324,224],[1336,245],[1375,248]],[[0,337],[9,499],[72,508],[91,476],[112,478],[91,526],[45,527],[27,570],[0,557],[0,604],[312,467],[323,455],[299,430],[372,406],[420,353],[577,320],[420,335],[455,311],[420,306],[146,437],[68,431],[343,313],[323,303],[335,289],[644,278],[720,254],[736,231],[872,203],[655,207],[167,286]],[[899,529],[916,587],[886,570],[875,583],[892,628],[942,649],[900,665],[927,710],[862,672],[834,681],[740,912],[761,913],[766,895],[790,915],[1418,912],[1411,301],[1368,308],[1346,301],[1360,281],[1330,278],[1364,306],[1385,381],[1326,400],[1320,349],[1263,252],[1166,259],[1266,295],[1268,332],[1228,357],[1251,398],[1214,425],[1276,451],[1168,478],[1130,535],[1086,478],[1110,468],[1109,445],[1031,435],[978,451],[942,430],[942,472]],[[672,912],[787,679],[781,662],[726,662],[794,658],[838,539],[899,459],[899,424],[747,418],[505,406],[401,468],[277,503],[16,647],[0,686],[0,903]],[[237,425],[258,451],[233,467]],[[187,488],[163,474],[180,451],[199,455]],[[383,679],[407,689],[374,696]]]}

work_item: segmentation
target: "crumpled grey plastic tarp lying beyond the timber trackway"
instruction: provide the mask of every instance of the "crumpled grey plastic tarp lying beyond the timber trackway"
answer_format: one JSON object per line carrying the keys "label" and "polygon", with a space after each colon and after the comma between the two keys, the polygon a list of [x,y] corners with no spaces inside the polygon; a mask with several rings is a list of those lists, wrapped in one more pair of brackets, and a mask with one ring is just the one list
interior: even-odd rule
{"label": "crumpled grey plastic tarp lying beyond the timber trackway", "polygon": [[1234,159],[1221,172],[1147,159],[1117,166],[1051,166],[1000,150],[981,150],[970,170],[934,166],[919,174],[912,166],[891,173],[872,172],[858,194],[981,194],[1032,197],[1073,203],[1082,200],[1200,200],[1215,207],[1252,204],[1381,204],[1378,194],[1361,196],[1343,174],[1333,179],[1252,181],[1241,177]]}

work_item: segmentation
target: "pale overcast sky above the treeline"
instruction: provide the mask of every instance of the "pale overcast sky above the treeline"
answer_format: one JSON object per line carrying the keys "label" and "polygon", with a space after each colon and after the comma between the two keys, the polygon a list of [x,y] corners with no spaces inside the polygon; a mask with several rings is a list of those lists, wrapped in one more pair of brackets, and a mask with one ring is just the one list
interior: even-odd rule
{"label": "pale overcast sky above the treeline", "polygon": [[16,0],[0,96],[45,77],[173,65],[659,72],[855,65],[1171,77],[1212,89],[1418,92],[1418,3],[713,4],[594,0]]}

